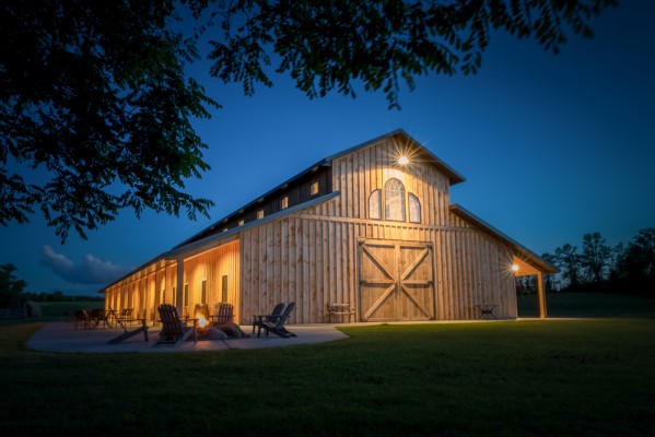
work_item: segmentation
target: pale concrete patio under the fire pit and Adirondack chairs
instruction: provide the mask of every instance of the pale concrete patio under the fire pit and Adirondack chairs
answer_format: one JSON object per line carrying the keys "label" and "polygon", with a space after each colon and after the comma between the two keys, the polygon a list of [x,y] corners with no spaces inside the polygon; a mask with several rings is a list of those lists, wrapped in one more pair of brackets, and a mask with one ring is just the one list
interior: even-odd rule
{"label": "pale concrete patio under the fire pit and Adirondack chairs", "polygon": [[[250,334],[250,327],[242,327]],[[227,340],[198,340],[187,341],[178,346],[161,345],[154,346],[160,332],[160,327],[151,327],[148,331],[149,342],[143,340],[139,333],[119,344],[107,344],[107,342],[124,331],[122,329],[78,329],[71,323],[50,322],[38,330],[27,342],[27,347],[36,351],[70,352],[70,353],[125,353],[125,352],[202,352],[224,351],[229,349],[258,349],[292,346],[299,344],[314,344],[328,341],[347,339],[348,335],[336,329],[335,324],[302,324],[289,326],[289,330],[297,336],[282,339],[277,335],[250,334],[247,339]]]}

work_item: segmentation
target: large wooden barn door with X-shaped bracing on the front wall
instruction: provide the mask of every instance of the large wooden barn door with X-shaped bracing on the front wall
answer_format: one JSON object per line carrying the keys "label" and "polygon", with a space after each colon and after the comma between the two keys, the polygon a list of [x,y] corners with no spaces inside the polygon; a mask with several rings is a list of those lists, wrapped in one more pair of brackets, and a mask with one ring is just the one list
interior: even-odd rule
{"label": "large wooden barn door with X-shaped bracing on the front wall", "polygon": [[431,244],[365,240],[358,251],[362,321],[434,319]]}

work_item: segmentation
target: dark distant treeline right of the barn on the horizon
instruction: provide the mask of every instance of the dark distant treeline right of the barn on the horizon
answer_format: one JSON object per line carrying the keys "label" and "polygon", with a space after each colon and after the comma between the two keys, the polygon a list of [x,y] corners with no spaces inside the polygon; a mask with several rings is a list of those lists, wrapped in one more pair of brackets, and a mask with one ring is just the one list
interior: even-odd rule
{"label": "dark distant treeline right of the barn on the horizon", "polygon": [[[641,229],[627,245],[609,247],[600,233],[585,234],[582,249],[565,244],[543,259],[560,270],[545,275],[546,290],[608,292],[655,297],[655,227]],[[516,279],[517,292],[535,293],[536,279]]]}

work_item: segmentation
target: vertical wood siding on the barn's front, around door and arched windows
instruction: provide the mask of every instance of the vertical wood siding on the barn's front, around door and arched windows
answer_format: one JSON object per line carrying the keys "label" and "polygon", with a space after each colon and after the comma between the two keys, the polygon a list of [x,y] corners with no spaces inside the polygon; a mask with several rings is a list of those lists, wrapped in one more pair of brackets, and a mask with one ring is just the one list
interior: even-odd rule
{"label": "vertical wood siding on the barn's front, around door and arched windows", "polygon": [[[338,198],[239,234],[243,315],[295,302],[291,322],[316,323],[326,321],[328,303],[355,305],[356,247],[363,238],[433,244],[436,319],[475,319],[475,305],[484,303],[499,305],[500,318],[516,317],[508,249],[448,211],[445,175],[421,163],[396,167],[396,158],[395,144],[386,140],[335,160],[332,186],[340,191]],[[421,224],[369,220],[369,196],[384,190],[389,178],[399,179],[407,192],[417,196]]]}

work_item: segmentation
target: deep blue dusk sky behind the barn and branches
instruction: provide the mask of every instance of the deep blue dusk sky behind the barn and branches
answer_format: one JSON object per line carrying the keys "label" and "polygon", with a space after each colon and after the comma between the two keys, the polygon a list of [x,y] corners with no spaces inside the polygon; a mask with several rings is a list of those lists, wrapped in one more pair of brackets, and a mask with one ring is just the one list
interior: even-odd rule
{"label": "deep blue dusk sky behind the barn and branches", "polygon": [[126,210],[61,246],[35,216],[0,227],[0,263],[15,264],[31,291],[95,292],[320,158],[396,128],[467,178],[453,203],[537,253],[596,231],[612,246],[628,241],[655,226],[655,2],[623,3],[593,22],[594,39],[571,37],[558,56],[496,35],[477,75],[421,78],[400,111],[363,90],[309,101],[284,76],[254,97],[206,81],[223,108],[196,123],[212,168],[188,189],[215,202],[211,220]]}

